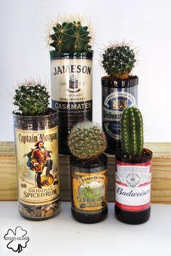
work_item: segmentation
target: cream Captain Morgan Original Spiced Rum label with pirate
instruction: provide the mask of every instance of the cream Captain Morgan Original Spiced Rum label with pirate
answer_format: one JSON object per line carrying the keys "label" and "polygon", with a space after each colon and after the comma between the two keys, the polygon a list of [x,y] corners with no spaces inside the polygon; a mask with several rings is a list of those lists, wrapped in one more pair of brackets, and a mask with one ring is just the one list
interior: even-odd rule
{"label": "cream Captain Morgan Original Spiced Rum label with pirate", "polygon": [[59,199],[58,128],[15,129],[19,201],[51,204]]}

